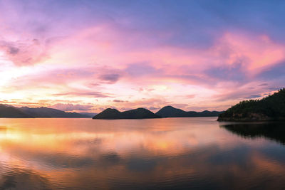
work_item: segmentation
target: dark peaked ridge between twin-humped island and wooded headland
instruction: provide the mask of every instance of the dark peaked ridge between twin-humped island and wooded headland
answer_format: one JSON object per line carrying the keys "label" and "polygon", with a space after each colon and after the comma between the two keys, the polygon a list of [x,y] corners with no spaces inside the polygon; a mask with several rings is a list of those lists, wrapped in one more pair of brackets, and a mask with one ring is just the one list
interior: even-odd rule
{"label": "dark peaked ridge between twin-humped island and wooded headland", "polygon": [[185,112],[184,110],[177,109],[172,106],[165,106],[162,107],[158,112],[156,112],[156,115],[159,115],[160,117],[216,117],[222,112],[217,111],[203,111],[203,112]]}

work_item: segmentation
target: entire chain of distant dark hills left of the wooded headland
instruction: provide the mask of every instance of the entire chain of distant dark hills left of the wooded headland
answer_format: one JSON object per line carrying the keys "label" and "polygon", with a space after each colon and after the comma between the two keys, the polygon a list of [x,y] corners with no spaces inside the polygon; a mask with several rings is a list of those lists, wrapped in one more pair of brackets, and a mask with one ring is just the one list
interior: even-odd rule
{"label": "entire chain of distant dark hills left of the wooded headland", "polygon": [[203,111],[203,112],[185,112],[172,106],[162,107],[158,112],[153,113],[145,108],[128,110],[120,112],[115,109],[108,108],[99,114],[89,112],[64,112],[48,107],[14,107],[11,105],[0,105],[0,117],[9,118],[91,118],[93,119],[146,119],[161,117],[215,117],[222,112]]}

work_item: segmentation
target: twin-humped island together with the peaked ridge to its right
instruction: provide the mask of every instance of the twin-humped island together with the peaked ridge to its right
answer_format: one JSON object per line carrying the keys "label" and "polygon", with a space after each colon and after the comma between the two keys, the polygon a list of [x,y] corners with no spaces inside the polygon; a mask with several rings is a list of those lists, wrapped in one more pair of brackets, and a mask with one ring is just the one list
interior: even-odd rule
{"label": "twin-humped island together with the peaked ridge to its right", "polygon": [[119,112],[118,110],[108,108],[98,115],[95,115],[93,119],[147,119],[147,118],[161,118],[161,117],[217,117],[222,112],[217,111],[203,111],[203,112],[185,112],[184,110],[177,109],[172,106],[162,107],[158,112],[153,113],[145,108],[138,108],[135,110],[128,110],[125,112]]}

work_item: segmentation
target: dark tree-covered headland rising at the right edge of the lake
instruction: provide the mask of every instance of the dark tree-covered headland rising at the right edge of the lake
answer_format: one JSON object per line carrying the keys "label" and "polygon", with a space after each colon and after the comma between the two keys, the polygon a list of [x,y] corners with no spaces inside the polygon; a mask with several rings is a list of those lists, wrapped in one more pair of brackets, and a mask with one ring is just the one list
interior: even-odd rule
{"label": "dark tree-covered headland rising at the right edge of the lake", "polygon": [[218,121],[285,120],[285,88],[262,98],[245,100],[219,115]]}

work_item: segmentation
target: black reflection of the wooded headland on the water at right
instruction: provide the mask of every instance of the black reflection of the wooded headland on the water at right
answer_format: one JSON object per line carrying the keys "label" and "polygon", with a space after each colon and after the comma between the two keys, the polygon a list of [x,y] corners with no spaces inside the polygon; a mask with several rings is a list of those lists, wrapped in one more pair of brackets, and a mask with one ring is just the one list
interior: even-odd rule
{"label": "black reflection of the wooded headland on the water at right", "polygon": [[243,123],[220,127],[244,138],[265,137],[285,144],[285,122]]}

